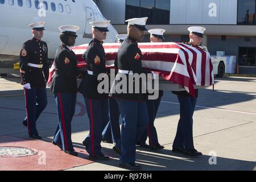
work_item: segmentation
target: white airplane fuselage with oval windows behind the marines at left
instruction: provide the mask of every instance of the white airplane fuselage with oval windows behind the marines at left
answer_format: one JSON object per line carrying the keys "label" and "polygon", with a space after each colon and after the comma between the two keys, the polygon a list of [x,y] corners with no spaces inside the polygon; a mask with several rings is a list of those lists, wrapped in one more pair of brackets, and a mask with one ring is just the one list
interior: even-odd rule
{"label": "white airplane fuselage with oval windows behind the marines at left", "polygon": [[[44,0],[47,8],[44,3],[39,9],[36,9],[37,4],[34,0],[22,1],[22,6],[17,3],[20,1],[15,0],[14,5],[11,5],[11,2],[5,1],[0,4],[0,55],[2,55],[0,61],[18,58],[22,44],[32,38],[28,24],[35,20],[46,22],[42,40],[48,45],[49,59],[54,59],[56,49],[60,44],[58,29],[60,26],[75,24],[80,27],[77,31],[76,46],[89,43],[92,39],[92,27],[89,22],[105,20],[92,0],[55,0],[54,2]],[[43,3],[42,0],[39,2]],[[115,35],[118,33],[111,24],[109,30],[104,42],[115,42]]]}

